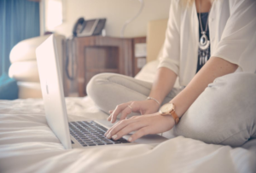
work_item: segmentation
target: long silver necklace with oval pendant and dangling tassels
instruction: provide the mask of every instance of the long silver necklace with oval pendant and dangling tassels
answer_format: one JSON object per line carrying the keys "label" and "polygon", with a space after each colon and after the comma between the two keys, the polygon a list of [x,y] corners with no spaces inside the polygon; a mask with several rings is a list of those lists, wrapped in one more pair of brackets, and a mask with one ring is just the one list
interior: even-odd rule
{"label": "long silver necklace with oval pendant and dangling tassels", "polygon": [[[210,12],[209,12],[209,14],[210,14]],[[209,55],[210,41],[209,41],[209,38],[207,37],[209,14],[207,16],[206,30],[203,31],[202,24],[201,24],[201,1],[200,1],[200,13],[199,13],[199,21],[200,21],[200,26],[201,26],[201,37],[200,37],[200,42],[199,42],[199,49],[201,49],[201,51],[199,51],[200,65],[205,64],[207,62],[208,55]]]}

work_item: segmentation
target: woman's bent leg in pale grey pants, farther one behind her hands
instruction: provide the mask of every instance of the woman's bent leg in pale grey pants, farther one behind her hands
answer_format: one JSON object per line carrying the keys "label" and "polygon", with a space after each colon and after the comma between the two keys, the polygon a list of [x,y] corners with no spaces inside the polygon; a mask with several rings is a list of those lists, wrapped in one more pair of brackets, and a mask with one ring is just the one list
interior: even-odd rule
{"label": "woman's bent leg in pale grey pants, farther one behind her hands", "polygon": [[[90,79],[87,94],[103,112],[113,110],[117,105],[128,101],[145,100],[152,87],[151,83],[115,73],[101,73]],[[179,89],[172,89],[165,101],[177,95]]]}

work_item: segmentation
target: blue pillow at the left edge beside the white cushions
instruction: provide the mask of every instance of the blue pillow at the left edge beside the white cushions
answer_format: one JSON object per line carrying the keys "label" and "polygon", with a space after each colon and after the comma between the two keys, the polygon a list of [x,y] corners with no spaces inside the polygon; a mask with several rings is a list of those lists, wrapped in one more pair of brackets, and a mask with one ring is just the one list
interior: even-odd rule
{"label": "blue pillow at the left edge beside the white cushions", "polygon": [[6,73],[0,77],[0,100],[18,99],[18,85],[14,78],[9,78]]}

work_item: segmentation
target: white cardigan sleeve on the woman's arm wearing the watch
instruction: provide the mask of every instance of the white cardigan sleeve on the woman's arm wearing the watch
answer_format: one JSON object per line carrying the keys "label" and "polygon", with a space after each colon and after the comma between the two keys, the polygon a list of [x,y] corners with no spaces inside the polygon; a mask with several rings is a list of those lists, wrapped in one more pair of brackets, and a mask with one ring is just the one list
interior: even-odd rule
{"label": "white cardigan sleeve on the woman's arm wearing the watch", "polygon": [[255,72],[255,0],[230,0],[230,18],[212,56],[240,66],[243,72]]}

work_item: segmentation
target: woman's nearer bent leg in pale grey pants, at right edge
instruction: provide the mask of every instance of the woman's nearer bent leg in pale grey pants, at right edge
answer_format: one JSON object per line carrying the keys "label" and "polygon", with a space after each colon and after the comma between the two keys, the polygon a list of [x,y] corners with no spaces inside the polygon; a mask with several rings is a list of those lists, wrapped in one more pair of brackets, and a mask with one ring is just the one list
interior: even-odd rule
{"label": "woman's nearer bent leg in pale grey pants, at right edge", "polygon": [[217,78],[174,128],[176,136],[238,147],[256,137],[256,74]]}

